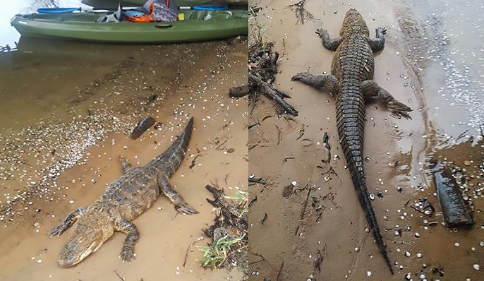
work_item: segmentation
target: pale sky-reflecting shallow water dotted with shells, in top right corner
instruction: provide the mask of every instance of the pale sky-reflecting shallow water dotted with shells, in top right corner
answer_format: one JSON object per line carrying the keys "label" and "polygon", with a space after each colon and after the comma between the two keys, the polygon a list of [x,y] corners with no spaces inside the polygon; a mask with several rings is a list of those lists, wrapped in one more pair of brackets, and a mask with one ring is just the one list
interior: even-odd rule
{"label": "pale sky-reflecting shallow water dotted with shells, in top right corner", "polygon": [[[482,133],[484,19],[482,1],[409,1],[419,35],[402,40],[409,63],[421,72],[429,121],[457,137]],[[404,28],[404,26],[400,26]],[[419,71],[419,68],[422,70]],[[452,114],[449,114],[452,112]]]}

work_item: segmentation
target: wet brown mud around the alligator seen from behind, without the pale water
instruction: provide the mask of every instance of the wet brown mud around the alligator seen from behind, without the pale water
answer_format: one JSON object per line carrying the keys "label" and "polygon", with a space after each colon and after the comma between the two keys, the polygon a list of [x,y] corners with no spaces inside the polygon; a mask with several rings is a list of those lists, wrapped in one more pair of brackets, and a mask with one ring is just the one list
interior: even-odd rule
{"label": "wet brown mud around the alligator seen from behind, without the pale water", "polygon": [[[438,210],[426,163],[440,141],[430,141],[432,118],[438,117],[428,116],[425,95],[429,93],[421,90],[421,76],[415,73],[425,73],[425,65],[414,64],[403,54],[408,50],[399,25],[401,14],[397,13],[401,6],[383,1],[306,1],[305,8],[315,20],[296,25],[286,4],[258,1],[256,5],[262,10],[250,20],[251,28],[260,23],[262,35],[282,54],[276,85],[291,95],[288,101],[299,115],[277,116],[272,102],[261,97],[250,116],[250,124],[260,122],[260,126],[249,130],[249,172],[267,182],[250,186],[249,201],[257,196],[249,213],[250,280],[405,280],[408,273],[413,280],[422,274],[427,280],[480,280],[483,266],[478,271],[473,265],[484,257],[478,238],[483,233],[483,215],[478,211],[483,208],[482,198],[475,202],[476,225],[458,232],[440,224],[440,213],[432,217],[438,225],[426,225],[424,220],[430,219],[409,205],[427,197]],[[388,28],[385,49],[375,57],[374,80],[414,109],[412,120],[405,120],[390,116],[382,104],[367,107],[366,180],[371,193],[382,195],[376,196],[373,208],[395,266],[393,276],[372,234],[365,232],[367,223],[339,147],[334,100],[325,91],[290,82],[301,71],[330,71],[332,53],[322,47],[315,30],[322,27],[337,35],[349,8],[361,12],[370,30],[380,25]],[[329,164],[321,161],[327,159],[324,133],[331,145]],[[451,155],[462,162],[468,155],[481,155],[482,148],[464,151],[467,154]],[[339,157],[334,159],[335,155]],[[482,156],[474,162],[480,164]],[[479,174],[478,167],[473,171]],[[296,186],[291,188],[293,181]],[[396,236],[399,228],[404,230]],[[460,246],[454,246],[456,241]],[[406,251],[410,257],[405,256]],[[438,270],[432,271],[433,267]]]}

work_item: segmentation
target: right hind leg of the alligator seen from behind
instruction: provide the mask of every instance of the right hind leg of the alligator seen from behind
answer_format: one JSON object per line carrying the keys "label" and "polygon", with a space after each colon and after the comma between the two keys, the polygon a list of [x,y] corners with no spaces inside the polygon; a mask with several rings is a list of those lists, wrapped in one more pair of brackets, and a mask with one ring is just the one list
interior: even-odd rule
{"label": "right hind leg of the alligator seen from behind", "polygon": [[409,114],[407,114],[407,112],[411,112],[412,109],[398,100],[395,100],[395,98],[390,95],[387,90],[381,88],[380,85],[378,85],[375,81],[365,80],[361,82],[360,89],[363,95],[366,97],[380,98],[380,100],[387,105],[392,114],[400,114],[401,116],[409,118]]}

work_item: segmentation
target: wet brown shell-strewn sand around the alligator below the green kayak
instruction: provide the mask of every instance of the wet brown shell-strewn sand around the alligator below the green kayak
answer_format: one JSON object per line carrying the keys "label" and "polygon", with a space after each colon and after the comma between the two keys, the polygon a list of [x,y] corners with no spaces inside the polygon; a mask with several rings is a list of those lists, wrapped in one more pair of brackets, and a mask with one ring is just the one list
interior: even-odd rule
{"label": "wet brown shell-strewn sand around the alligator below the green kayak", "polygon": [[[103,60],[108,48],[119,56]],[[247,81],[247,45],[85,44],[78,56],[63,56],[58,49],[50,59],[26,51],[10,56],[9,68],[0,73],[7,82],[2,90],[11,93],[1,102],[1,148],[8,157],[0,163],[6,177],[1,181],[0,279],[118,280],[117,272],[126,280],[241,280],[237,268],[202,269],[198,246],[211,242],[202,227],[214,218],[205,184],[225,187],[229,195],[235,187],[247,189],[247,100],[228,97],[229,88]],[[151,95],[157,100],[146,106]],[[128,134],[143,116],[163,125],[131,140]],[[57,256],[68,233],[49,239],[47,231],[121,176],[118,155],[145,165],[169,146],[190,116],[195,128],[189,151],[171,183],[200,214],[176,215],[160,196],[134,221],[140,232],[135,261],[121,261],[125,236],[115,233],[82,263],[60,268]],[[226,153],[229,148],[234,151]]]}

